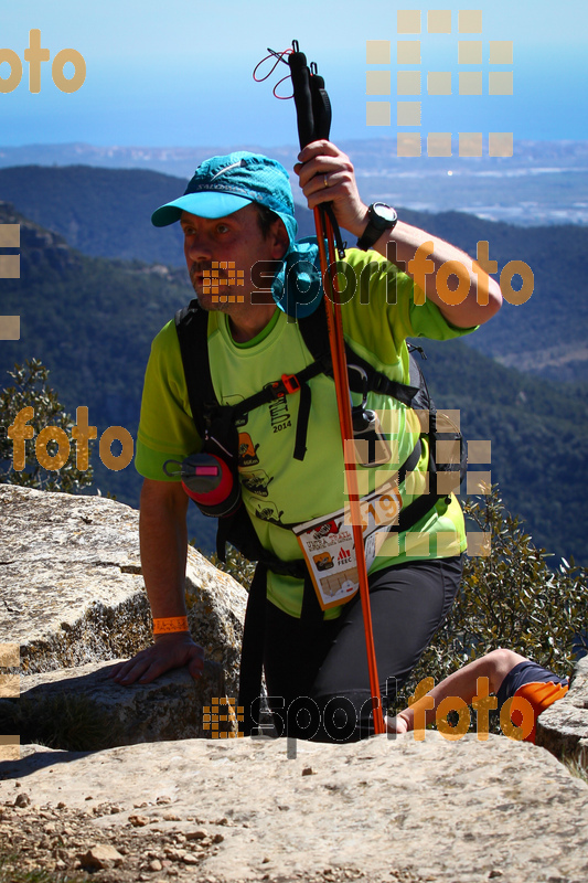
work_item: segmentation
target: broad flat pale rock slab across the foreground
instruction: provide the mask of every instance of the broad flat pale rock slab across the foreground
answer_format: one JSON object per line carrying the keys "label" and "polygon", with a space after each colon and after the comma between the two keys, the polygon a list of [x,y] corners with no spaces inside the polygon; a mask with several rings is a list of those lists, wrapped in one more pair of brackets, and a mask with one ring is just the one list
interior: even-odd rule
{"label": "broad flat pale rock slab across the foreground", "polygon": [[87,823],[114,845],[117,831],[136,826],[146,851],[158,831],[186,842],[204,831],[214,848],[202,853],[199,880],[588,876],[588,785],[542,748],[504,736],[449,742],[428,732],[424,742],[406,734],[298,742],[296,751],[282,740],[186,740],[94,755],[24,753],[0,765],[0,802],[12,804],[21,783],[47,808],[65,801],[90,812],[116,794],[121,811]]}

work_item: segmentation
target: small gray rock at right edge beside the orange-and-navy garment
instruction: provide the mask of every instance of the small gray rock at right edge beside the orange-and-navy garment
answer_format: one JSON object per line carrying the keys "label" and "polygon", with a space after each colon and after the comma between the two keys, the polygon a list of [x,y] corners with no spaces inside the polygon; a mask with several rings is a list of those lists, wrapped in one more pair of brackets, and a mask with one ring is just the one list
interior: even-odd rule
{"label": "small gray rock at right edge beside the orange-and-navy garment", "polygon": [[588,769],[588,656],[577,663],[564,699],[537,719],[535,743]]}

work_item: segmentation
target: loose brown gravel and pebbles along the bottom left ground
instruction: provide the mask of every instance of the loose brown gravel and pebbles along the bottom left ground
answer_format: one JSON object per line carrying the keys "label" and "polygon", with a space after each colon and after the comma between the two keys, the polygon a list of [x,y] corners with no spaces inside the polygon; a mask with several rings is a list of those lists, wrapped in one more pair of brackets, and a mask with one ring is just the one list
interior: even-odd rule
{"label": "loose brown gravel and pebbles along the bottom left ground", "polygon": [[[55,883],[226,883],[226,877],[209,874],[201,865],[205,858],[218,851],[224,839],[218,828],[228,826],[228,819],[214,819],[214,830],[211,830],[206,819],[188,817],[186,821],[192,825],[185,832],[164,830],[165,822],[179,819],[172,810],[165,810],[167,800],[169,798],[160,798],[157,802],[162,809],[160,827],[141,815],[147,804],[140,802],[133,806],[137,811],[129,816],[126,826],[106,823],[98,831],[93,820],[117,815],[122,809],[118,804],[100,804],[90,811],[72,809],[63,801],[56,807],[39,806],[31,804],[23,789],[15,801],[4,801],[0,806],[0,883],[20,881],[26,873],[36,881],[40,871],[47,874],[47,881]],[[274,883],[287,880],[346,883],[367,879],[357,868],[327,866],[316,873],[298,871],[284,876],[268,872],[258,876],[259,881]],[[420,883],[434,877],[398,869],[391,872],[388,880],[391,883]],[[246,881],[252,883],[252,877],[247,876]],[[240,882],[232,877],[231,883]]]}

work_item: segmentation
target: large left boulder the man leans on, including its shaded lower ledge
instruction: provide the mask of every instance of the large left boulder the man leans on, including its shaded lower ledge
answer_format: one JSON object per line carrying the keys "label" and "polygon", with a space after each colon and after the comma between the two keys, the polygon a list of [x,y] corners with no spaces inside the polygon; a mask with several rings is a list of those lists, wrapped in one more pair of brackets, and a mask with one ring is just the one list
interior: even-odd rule
{"label": "large left boulder the man leans on, including its shaded lower ledge", "polygon": [[[205,736],[203,705],[236,696],[247,593],[191,547],[189,624],[205,677],[175,671],[130,688],[106,678],[105,660],[151,643],[138,524],[139,513],[114,500],[0,486],[0,720],[20,723],[3,732],[88,749]],[[7,668],[19,645],[20,684]],[[22,701],[6,699],[19,689]]]}

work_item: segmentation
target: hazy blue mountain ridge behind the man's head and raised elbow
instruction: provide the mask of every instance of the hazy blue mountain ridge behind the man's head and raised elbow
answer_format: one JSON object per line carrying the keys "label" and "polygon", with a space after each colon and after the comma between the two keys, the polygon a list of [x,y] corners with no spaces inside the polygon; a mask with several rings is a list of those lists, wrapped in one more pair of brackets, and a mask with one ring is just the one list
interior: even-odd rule
{"label": "hazy blue mountain ridge behind the man's head and raised elbow", "polygon": [[[178,224],[156,230],[152,211],[185,189],[179,178],[138,169],[40,166],[0,169],[0,199],[60,233],[87,255],[183,267]],[[521,370],[568,382],[588,380],[588,227],[516,227],[469,214],[429,214],[398,206],[400,217],[475,255],[489,242],[499,272],[522,260],[534,292],[522,306],[505,304],[468,345]],[[299,235],[312,235],[311,213],[297,206]],[[350,244],[354,240],[348,236]],[[517,279],[513,279],[516,287]]]}

